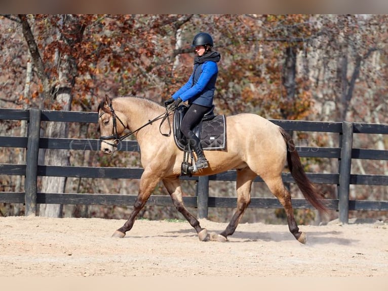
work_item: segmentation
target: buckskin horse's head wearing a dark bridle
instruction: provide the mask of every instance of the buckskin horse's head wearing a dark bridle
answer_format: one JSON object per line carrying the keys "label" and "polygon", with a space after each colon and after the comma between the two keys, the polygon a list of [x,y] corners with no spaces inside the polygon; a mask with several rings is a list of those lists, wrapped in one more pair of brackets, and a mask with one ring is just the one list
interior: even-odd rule
{"label": "buckskin horse's head wearing a dark bridle", "polygon": [[121,134],[126,129],[125,116],[118,110],[114,111],[112,100],[105,95],[98,106],[98,123],[100,125],[101,151],[112,154],[121,141]]}

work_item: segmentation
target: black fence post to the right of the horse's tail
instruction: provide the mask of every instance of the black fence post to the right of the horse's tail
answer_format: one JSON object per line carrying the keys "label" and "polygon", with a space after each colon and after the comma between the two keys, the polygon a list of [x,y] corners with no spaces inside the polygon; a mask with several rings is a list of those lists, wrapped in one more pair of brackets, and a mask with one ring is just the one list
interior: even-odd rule
{"label": "black fence post to the right of the horse's tail", "polygon": [[338,210],[339,221],[349,222],[349,187],[352,166],[353,123],[342,122],[341,160],[339,165]]}

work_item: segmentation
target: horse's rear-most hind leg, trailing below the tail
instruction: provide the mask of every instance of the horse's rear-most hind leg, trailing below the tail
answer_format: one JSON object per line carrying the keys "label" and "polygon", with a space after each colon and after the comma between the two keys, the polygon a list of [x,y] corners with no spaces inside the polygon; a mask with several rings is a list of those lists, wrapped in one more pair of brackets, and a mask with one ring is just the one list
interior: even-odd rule
{"label": "horse's rear-most hind leg, trailing below the tail", "polygon": [[264,179],[269,190],[279,199],[287,215],[288,228],[294,237],[301,243],[306,242],[306,234],[299,231],[294,217],[294,210],[291,204],[290,192],[284,187],[281,177],[274,179]]}

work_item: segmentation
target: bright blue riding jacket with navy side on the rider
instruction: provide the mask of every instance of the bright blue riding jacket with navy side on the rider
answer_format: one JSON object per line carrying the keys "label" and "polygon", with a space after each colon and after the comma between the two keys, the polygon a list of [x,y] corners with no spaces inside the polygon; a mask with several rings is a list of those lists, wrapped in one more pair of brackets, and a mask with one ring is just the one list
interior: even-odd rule
{"label": "bright blue riding jacket with navy side on the rider", "polygon": [[215,84],[218,75],[218,60],[219,57],[218,59],[216,58],[216,61],[209,60],[201,63],[196,62],[187,83],[175,92],[172,97],[175,100],[178,99],[178,97],[180,97],[182,101],[188,100],[188,104],[211,107],[213,105]]}

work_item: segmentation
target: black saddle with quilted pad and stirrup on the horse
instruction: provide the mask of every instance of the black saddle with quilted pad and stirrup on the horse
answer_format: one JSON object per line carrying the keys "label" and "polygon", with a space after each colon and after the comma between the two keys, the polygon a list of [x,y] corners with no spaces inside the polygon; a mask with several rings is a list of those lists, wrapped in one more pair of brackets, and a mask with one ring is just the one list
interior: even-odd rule
{"label": "black saddle with quilted pad and stirrup on the horse", "polygon": [[[187,112],[187,106],[182,104],[178,106],[174,112],[173,118],[173,133],[177,147],[184,151],[183,162],[181,167],[182,175],[191,176],[192,172],[189,168],[193,160],[192,149],[190,149],[186,137],[180,131],[180,124]],[[193,128],[193,132],[201,141],[203,150],[224,150],[226,148],[226,122],[224,115],[214,114],[214,105],[204,115],[201,122]]]}

